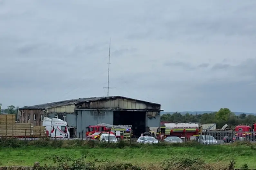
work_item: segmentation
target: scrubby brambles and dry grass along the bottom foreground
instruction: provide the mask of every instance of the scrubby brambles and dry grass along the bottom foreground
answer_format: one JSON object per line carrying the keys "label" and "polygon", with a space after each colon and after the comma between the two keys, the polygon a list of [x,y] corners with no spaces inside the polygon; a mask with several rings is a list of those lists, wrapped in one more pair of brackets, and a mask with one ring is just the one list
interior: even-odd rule
{"label": "scrubby brambles and dry grass along the bottom foreground", "polygon": [[[88,155],[84,155],[78,159],[73,159],[72,157],[59,157],[56,155],[52,155],[47,157],[46,159],[52,159],[54,165],[44,165],[34,169],[40,170],[233,170],[234,163],[230,161],[230,165],[208,165],[201,159],[189,159],[189,158],[181,158],[177,160],[165,160],[165,163],[152,163],[152,164],[144,164],[137,165],[127,162],[113,162],[109,160],[98,160],[94,161],[86,160]],[[90,156],[90,155],[89,155]],[[248,166],[242,166],[243,170],[248,170]]]}

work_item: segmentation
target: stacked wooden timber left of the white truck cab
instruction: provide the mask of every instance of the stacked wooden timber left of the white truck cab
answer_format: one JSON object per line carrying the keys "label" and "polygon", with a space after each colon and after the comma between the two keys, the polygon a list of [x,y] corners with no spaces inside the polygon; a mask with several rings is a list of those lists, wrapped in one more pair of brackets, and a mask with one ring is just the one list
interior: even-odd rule
{"label": "stacked wooden timber left of the white truck cab", "polygon": [[15,115],[0,115],[0,137],[43,137],[44,126],[15,123]]}

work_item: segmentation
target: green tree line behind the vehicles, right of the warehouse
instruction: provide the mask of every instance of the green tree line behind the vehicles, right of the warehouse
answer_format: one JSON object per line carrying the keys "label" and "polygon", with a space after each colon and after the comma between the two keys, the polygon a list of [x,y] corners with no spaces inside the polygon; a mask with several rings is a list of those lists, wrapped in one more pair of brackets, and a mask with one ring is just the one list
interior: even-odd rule
{"label": "green tree line behind the vehicles, right of the warehouse", "polygon": [[235,115],[228,108],[221,108],[217,112],[212,113],[204,113],[204,114],[196,114],[192,115],[186,113],[182,115],[178,112],[173,114],[164,114],[161,116],[161,121],[168,122],[178,122],[178,123],[188,123],[188,122],[197,122],[197,123],[216,123],[217,129],[223,127],[223,125],[231,125],[232,127],[237,126],[239,124],[249,125],[252,123],[256,123],[255,115],[246,115],[240,114]]}

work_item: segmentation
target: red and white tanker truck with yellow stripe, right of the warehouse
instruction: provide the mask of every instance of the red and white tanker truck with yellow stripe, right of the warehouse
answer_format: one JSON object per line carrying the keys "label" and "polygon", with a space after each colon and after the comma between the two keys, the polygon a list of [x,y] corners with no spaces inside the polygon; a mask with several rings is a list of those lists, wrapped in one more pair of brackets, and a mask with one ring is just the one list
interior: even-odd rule
{"label": "red and white tanker truck with yellow stripe, right of the warehouse", "polygon": [[202,126],[198,123],[164,123],[156,134],[158,140],[164,140],[168,136],[177,136],[183,140],[189,140],[191,136],[197,136]]}

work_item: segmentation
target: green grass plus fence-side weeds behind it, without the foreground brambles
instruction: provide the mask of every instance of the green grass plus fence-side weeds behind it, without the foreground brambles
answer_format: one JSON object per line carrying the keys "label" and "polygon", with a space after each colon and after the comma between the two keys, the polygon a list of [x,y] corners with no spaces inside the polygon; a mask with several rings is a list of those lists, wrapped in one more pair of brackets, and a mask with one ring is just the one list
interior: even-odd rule
{"label": "green grass plus fence-side weeds behind it, without the foreground brambles", "polygon": [[198,143],[130,146],[124,142],[108,145],[83,141],[0,140],[0,166],[32,166],[35,161],[41,165],[53,165],[54,157],[78,159],[85,156],[87,161],[92,162],[107,159],[109,162],[132,163],[138,166],[194,160],[202,166],[205,164],[217,167],[217,164],[228,166],[230,160],[234,160],[237,168],[244,164],[249,168],[256,168],[254,147],[256,148],[250,143],[214,146]]}

